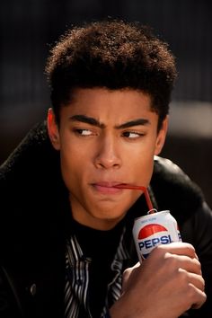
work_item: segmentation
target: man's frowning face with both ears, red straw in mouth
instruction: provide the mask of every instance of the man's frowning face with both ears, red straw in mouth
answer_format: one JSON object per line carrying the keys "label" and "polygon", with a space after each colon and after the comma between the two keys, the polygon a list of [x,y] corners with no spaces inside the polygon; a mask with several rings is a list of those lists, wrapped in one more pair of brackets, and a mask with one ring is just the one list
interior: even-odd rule
{"label": "man's frowning face with both ears, red straw in mouth", "polygon": [[154,155],[162,149],[167,119],[158,116],[148,95],[134,90],[77,89],[60,111],[59,128],[49,110],[49,137],[60,150],[61,171],[76,221],[107,230],[141,195],[114,186],[147,187]]}

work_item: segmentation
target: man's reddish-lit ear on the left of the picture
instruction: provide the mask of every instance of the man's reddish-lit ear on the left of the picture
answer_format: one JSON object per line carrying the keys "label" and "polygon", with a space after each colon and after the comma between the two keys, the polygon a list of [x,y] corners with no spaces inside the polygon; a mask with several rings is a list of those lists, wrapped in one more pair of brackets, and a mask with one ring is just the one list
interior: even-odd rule
{"label": "man's reddish-lit ear on the left of the picture", "polygon": [[50,138],[52,146],[56,150],[59,150],[60,149],[59,131],[58,131],[58,126],[57,126],[54,111],[51,108],[49,108],[48,110],[47,127],[48,127],[49,138]]}

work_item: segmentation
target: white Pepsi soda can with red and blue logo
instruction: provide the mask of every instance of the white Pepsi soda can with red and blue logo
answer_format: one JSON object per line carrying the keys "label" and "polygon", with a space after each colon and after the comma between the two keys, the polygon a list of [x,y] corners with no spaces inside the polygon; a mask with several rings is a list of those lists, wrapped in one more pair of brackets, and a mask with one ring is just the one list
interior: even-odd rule
{"label": "white Pepsi soda can with red and blue logo", "polygon": [[169,210],[137,217],[133,225],[133,238],[140,262],[146,260],[159,244],[181,242],[177,221]]}

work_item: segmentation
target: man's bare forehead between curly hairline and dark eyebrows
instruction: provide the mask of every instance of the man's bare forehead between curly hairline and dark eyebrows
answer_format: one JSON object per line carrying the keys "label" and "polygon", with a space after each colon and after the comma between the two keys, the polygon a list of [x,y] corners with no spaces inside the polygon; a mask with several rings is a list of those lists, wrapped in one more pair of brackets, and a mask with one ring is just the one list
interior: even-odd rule
{"label": "man's bare forehead between curly hairline and dark eyebrows", "polygon": [[85,115],[107,124],[121,125],[134,119],[157,120],[148,94],[132,89],[78,88],[69,104],[61,108],[61,118]]}

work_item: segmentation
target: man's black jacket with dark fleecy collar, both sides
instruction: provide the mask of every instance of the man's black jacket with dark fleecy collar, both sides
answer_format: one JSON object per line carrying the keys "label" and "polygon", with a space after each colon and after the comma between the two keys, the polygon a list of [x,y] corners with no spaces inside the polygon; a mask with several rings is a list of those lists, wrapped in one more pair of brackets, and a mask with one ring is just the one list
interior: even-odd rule
{"label": "man's black jacket with dark fleecy collar, both sides", "polygon": [[[151,193],[158,210],[171,210],[182,241],[195,246],[202,264],[208,301],[191,314],[211,317],[212,213],[198,186],[167,159],[155,158]],[[143,197],[129,216],[141,215]],[[70,211],[46,123],[33,128],[1,166],[0,198],[0,318],[62,318]],[[126,266],[137,261],[131,249]]]}

